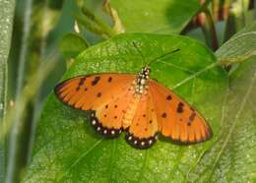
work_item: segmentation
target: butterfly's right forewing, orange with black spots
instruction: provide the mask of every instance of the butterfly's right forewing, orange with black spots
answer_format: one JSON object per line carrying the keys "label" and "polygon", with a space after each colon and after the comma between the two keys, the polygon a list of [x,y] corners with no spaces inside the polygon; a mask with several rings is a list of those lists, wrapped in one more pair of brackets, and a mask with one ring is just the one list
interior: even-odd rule
{"label": "butterfly's right forewing, orange with black spots", "polygon": [[211,138],[212,130],[204,117],[183,99],[154,80],[149,81],[160,133],[174,141],[194,144]]}

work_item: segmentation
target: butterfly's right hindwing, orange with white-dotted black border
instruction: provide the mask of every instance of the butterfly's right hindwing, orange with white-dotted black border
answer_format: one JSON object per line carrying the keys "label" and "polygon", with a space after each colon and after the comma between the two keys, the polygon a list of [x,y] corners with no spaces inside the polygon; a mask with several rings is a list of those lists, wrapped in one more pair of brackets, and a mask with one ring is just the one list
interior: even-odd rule
{"label": "butterfly's right hindwing, orange with white-dotted black border", "polygon": [[157,140],[158,119],[149,92],[143,93],[136,105],[132,123],[126,134],[126,142],[138,149],[148,149]]}

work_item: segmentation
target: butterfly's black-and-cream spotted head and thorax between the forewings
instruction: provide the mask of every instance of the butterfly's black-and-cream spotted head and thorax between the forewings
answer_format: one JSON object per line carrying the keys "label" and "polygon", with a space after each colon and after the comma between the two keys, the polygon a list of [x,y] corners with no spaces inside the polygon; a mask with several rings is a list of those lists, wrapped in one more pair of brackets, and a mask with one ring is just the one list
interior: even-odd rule
{"label": "butterfly's black-and-cream spotted head and thorax between the forewings", "polygon": [[150,78],[151,69],[149,66],[142,68],[135,81],[135,92],[142,94],[147,88],[147,81]]}

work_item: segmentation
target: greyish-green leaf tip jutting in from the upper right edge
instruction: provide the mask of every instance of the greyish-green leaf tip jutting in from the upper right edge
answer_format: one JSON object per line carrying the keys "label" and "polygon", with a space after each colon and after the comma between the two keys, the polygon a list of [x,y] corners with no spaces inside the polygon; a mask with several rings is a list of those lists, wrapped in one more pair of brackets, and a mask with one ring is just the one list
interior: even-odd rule
{"label": "greyish-green leaf tip jutting in from the upper right edge", "polygon": [[256,23],[234,34],[216,55],[223,65],[242,62],[256,55]]}

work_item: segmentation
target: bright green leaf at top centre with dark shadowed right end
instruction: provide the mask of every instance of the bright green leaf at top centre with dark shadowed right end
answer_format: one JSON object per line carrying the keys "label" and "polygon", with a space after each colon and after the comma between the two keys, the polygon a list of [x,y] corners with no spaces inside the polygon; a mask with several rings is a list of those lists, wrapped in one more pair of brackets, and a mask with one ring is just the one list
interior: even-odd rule
{"label": "bright green leaf at top centre with dark shadowed right end", "polygon": [[179,33],[200,9],[198,0],[111,0],[127,32]]}

